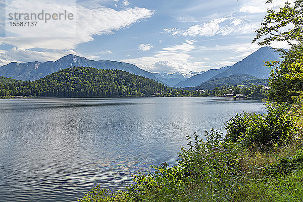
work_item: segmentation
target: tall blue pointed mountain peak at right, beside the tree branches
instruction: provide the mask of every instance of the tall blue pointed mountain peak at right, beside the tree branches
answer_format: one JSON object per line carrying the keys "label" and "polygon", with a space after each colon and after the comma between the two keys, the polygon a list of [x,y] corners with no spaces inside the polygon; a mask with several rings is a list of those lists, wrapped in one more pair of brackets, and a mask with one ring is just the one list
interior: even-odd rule
{"label": "tall blue pointed mountain peak at right, beside the tree branches", "polygon": [[257,52],[247,56],[242,61],[237,62],[228,70],[217,74],[214,78],[228,77],[233,74],[250,74],[259,79],[269,78],[270,71],[274,67],[265,67],[264,61],[277,61],[281,60],[278,52],[275,52],[272,47],[261,47]]}

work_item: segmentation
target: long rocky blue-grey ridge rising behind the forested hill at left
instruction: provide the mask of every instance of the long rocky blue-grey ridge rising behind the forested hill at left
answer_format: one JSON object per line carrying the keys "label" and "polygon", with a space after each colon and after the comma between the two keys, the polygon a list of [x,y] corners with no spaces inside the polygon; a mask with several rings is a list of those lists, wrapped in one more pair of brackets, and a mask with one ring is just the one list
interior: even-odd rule
{"label": "long rocky blue-grey ridge rising behind the forested hill at left", "polygon": [[18,80],[33,81],[48,74],[57,72],[58,70],[77,66],[93,67],[97,69],[119,69],[138,76],[144,76],[146,78],[159,81],[152,73],[144,71],[129,63],[121,63],[115,61],[94,61],[75,55],[64,56],[55,62],[13,62],[0,67],[0,75]]}

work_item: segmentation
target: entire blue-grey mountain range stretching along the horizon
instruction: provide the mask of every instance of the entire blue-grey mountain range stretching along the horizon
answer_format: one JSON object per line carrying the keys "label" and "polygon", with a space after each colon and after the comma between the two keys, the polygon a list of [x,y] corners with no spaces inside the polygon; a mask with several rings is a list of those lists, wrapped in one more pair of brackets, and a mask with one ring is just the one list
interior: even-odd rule
{"label": "entire blue-grey mountain range stretching along the horizon", "polygon": [[[59,60],[47,62],[27,62],[10,64],[0,67],[0,75],[12,79],[33,81],[38,80],[46,75],[52,74],[59,70],[70,67],[93,67],[96,69],[118,69],[138,76],[153,79],[170,87],[194,87],[200,86],[206,81],[212,81],[217,78],[226,78],[231,75],[250,75],[254,79],[269,78],[270,71],[273,67],[264,67],[264,61],[281,60],[280,55],[271,47],[262,47],[257,52],[252,53],[243,60],[235,63],[232,66],[222,67],[219,69],[210,69],[206,72],[189,72],[182,74],[175,72],[168,73],[150,73],[138,68],[129,63],[122,63],[116,61],[94,61],[75,55],[67,55]],[[193,75],[193,76],[191,76]],[[189,78],[188,78],[189,77]],[[245,80],[244,76],[242,80]],[[227,79],[228,80],[228,79]],[[241,79],[240,79],[241,80]]]}

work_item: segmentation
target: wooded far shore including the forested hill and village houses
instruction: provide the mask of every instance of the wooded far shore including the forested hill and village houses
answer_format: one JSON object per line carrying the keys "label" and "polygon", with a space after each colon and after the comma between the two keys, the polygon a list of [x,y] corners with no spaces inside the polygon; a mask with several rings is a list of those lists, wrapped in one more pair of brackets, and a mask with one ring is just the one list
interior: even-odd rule
{"label": "wooded far shore including the forested hill and village houses", "polygon": [[0,98],[234,97],[263,99],[268,87],[224,85],[213,90],[170,88],[121,70],[72,67],[36,81],[0,78]]}

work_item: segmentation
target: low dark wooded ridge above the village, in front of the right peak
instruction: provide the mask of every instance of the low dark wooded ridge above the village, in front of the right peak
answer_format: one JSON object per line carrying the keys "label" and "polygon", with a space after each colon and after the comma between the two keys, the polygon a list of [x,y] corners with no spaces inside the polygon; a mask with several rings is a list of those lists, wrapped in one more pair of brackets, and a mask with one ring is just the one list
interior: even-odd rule
{"label": "low dark wooded ridge above the village, in front of the right peak", "polygon": [[203,82],[201,85],[198,86],[199,89],[203,90],[212,90],[215,87],[221,87],[229,84],[230,86],[235,86],[241,84],[243,81],[258,79],[255,76],[249,74],[234,74],[230,75],[229,77],[223,78],[215,78],[209,81]]}

